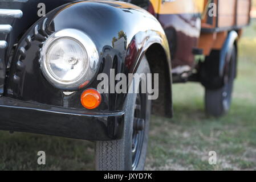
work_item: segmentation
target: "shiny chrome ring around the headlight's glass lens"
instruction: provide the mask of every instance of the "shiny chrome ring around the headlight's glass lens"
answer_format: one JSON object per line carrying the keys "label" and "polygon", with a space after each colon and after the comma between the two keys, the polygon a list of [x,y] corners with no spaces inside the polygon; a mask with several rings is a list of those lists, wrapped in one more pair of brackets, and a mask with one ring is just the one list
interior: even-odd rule
{"label": "shiny chrome ring around the headlight's glass lens", "polygon": [[[87,55],[88,60],[86,68],[84,68],[82,74],[73,81],[59,80],[58,78],[55,78],[48,69],[46,59],[47,51],[53,43],[60,39],[72,39],[82,46]],[[54,32],[46,39],[40,51],[40,67],[44,77],[46,77],[46,79],[55,87],[62,90],[78,90],[88,85],[96,75],[97,69],[99,68],[99,52],[91,38],[83,31],[74,28],[66,28]]]}

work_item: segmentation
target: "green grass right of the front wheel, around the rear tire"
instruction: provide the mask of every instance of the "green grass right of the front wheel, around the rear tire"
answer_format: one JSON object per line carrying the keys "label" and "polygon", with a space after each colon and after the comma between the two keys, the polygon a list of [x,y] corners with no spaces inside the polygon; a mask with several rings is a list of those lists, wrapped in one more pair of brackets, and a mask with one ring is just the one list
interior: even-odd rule
{"label": "green grass right of the front wheel, around the rear tire", "polygon": [[[256,169],[256,20],[239,42],[239,76],[233,104],[220,119],[204,114],[200,84],[173,86],[173,119],[152,117],[147,169]],[[217,165],[208,163],[217,152]]]}

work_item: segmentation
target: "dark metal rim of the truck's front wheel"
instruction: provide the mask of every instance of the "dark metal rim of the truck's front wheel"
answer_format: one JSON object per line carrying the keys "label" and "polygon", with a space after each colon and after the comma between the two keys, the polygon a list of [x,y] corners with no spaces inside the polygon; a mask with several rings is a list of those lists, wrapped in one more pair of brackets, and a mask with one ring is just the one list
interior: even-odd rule
{"label": "dark metal rim of the truck's front wheel", "polygon": [[140,161],[145,135],[145,94],[137,94],[132,129],[132,169],[135,170]]}

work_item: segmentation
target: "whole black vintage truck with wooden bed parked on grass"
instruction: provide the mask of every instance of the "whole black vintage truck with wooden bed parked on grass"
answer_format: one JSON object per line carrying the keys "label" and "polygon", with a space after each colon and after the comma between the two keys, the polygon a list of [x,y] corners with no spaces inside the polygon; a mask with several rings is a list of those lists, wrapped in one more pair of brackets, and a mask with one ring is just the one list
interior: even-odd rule
{"label": "whole black vintage truck with wooden bed parked on grass", "polygon": [[[249,0],[0,0],[0,129],[91,140],[96,169],[143,169],[151,108],[172,117],[172,83],[201,82],[206,113],[229,110],[250,6]],[[158,74],[151,79],[159,81],[157,100],[140,89],[99,92],[97,77],[112,77],[111,70]],[[130,83],[128,77],[127,91]]]}

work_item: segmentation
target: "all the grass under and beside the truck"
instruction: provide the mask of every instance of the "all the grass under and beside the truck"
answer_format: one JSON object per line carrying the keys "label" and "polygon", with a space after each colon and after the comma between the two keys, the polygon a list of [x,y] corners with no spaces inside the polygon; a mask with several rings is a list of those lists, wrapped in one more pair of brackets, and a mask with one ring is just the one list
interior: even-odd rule
{"label": "all the grass under and beside the truck", "polygon": [[[256,169],[256,20],[239,42],[239,76],[230,113],[204,114],[200,84],[173,86],[173,119],[152,116],[146,169]],[[0,170],[94,169],[94,143],[45,135],[0,131]],[[37,152],[46,152],[46,166]],[[217,152],[217,165],[208,163]]]}

